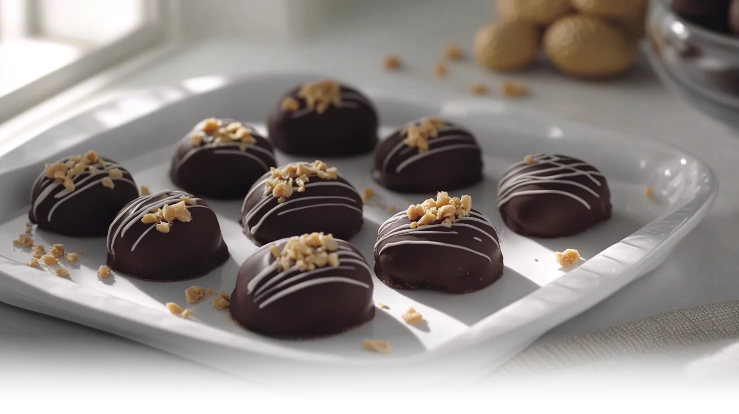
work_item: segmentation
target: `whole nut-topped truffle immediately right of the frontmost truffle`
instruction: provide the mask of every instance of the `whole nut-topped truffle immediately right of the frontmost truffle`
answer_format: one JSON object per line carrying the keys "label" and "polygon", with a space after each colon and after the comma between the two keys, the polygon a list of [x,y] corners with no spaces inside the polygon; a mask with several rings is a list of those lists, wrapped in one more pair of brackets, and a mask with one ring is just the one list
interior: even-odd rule
{"label": "whole nut-topped truffle immediately right of the frontmost truffle", "polygon": [[375,274],[392,288],[426,287],[449,293],[479,291],[503,276],[503,254],[490,220],[471,208],[471,197],[410,206],[377,234]]}

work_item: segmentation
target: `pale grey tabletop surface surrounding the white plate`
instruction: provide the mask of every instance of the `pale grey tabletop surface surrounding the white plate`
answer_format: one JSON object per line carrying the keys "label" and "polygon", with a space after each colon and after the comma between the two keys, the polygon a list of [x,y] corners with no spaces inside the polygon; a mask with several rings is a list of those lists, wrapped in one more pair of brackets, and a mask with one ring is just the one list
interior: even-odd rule
{"label": "pale grey tabletop surface surrounding the white plate", "polygon": [[[568,78],[545,61],[526,72],[500,75],[486,72],[467,59],[449,64],[447,78],[433,78],[432,68],[444,45],[456,42],[469,51],[474,30],[493,17],[490,1],[465,1],[464,7],[455,3],[383,3],[359,17],[337,19],[299,44],[248,39],[182,44],[177,52],[86,101],[184,78],[285,69],[323,72],[366,87],[396,90],[402,90],[403,82],[413,79],[426,82],[440,97],[465,94],[476,82],[496,90],[503,80],[523,81],[531,95],[512,104],[680,146],[709,163],[721,186],[706,220],[678,245],[661,268],[551,330],[537,343],[655,313],[736,299],[739,132],[671,95],[643,59],[626,75],[602,83]],[[381,61],[388,53],[401,56],[403,70],[382,69]],[[82,104],[84,101],[77,105]],[[0,136],[0,143],[2,139]],[[75,401],[135,398],[146,405],[325,403],[236,379],[125,339],[7,305],[0,305],[0,330],[5,333],[0,336],[0,404],[10,404],[11,398],[58,401],[67,397]]]}

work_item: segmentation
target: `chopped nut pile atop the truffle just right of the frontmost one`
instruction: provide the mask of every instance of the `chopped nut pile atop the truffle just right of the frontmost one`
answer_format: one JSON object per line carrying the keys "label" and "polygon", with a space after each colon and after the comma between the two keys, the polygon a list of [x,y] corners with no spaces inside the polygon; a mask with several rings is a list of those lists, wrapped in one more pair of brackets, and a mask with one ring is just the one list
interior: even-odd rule
{"label": "chopped nut pile atop the truffle just right of the frontmost one", "polygon": [[460,217],[468,217],[472,208],[472,197],[449,197],[446,191],[439,191],[436,200],[429,198],[422,204],[408,206],[406,214],[412,221],[410,228],[429,225],[441,221],[440,224],[452,225]]}

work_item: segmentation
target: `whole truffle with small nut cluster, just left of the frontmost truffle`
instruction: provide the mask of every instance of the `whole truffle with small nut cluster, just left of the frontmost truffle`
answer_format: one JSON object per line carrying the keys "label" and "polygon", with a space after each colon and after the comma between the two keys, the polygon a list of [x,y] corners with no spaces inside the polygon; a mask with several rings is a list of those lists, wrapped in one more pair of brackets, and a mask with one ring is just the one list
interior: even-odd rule
{"label": "whole truffle with small nut cluster, just left of the frontmost truffle", "polygon": [[128,203],[106,242],[110,268],[148,280],[192,279],[229,257],[216,214],[183,191],[159,191]]}

